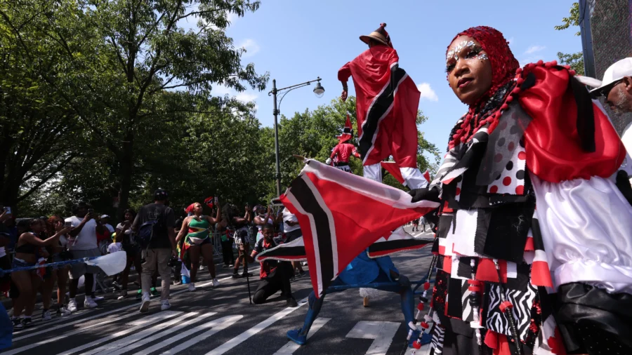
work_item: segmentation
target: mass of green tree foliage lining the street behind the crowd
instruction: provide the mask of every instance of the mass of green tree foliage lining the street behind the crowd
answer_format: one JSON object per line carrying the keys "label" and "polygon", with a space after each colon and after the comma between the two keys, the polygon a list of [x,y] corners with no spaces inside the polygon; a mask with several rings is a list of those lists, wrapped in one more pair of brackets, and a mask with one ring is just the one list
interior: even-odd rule
{"label": "mass of green tree foliage lining the street behind the crowd", "polygon": [[[38,216],[66,215],[83,200],[116,218],[158,187],[176,207],[208,196],[270,201],[274,130],[261,126],[253,103],[211,95],[215,85],[265,88],[268,74],[244,65],[243,50],[225,34],[229,13],[258,6],[0,0],[0,201]],[[186,20],[197,29],[185,29]],[[327,159],[347,112],[355,124],[355,98],[281,117],[283,186],[302,168],[292,154]],[[426,119],[419,112],[418,125]],[[420,131],[419,168],[432,170],[438,159]],[[358,159],[351,167],[362,174]]]}

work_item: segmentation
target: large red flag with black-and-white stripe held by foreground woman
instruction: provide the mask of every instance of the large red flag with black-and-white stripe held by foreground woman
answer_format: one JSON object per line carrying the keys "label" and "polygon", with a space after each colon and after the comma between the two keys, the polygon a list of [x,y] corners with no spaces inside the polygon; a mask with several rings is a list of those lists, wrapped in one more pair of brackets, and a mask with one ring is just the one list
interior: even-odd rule
{"label": "large red flag with black-and-white stripe held by foreground woman", "polygon": [[305,163],[281,201],[301,225],[317,297],[371,244],[439,206],[431,201],[412,203],[400,189],[315,160]]}

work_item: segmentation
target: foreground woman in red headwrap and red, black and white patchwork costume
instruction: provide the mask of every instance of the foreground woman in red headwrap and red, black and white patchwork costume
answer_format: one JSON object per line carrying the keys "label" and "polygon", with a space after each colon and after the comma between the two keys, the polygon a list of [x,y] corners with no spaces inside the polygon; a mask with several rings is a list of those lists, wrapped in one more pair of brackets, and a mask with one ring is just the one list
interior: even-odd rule
{"label": "foreground woman in red headwrap and red, black and white patchwork costume", "polygon": [[431,354],[632,354],[630,163],[600,103],[491,27],[458,34],[446,72],[469,109],[412,192],[441,202]]}

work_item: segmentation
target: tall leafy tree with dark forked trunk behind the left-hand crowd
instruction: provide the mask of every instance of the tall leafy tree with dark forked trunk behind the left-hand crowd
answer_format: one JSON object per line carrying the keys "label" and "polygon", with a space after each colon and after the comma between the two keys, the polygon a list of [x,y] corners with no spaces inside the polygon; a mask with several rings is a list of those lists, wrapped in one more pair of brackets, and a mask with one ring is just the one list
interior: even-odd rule
{"label": "tall leafy tree with dark forked trunk behind the left-hand crowd", "polygon": [[[19,0],[4,2],[1,23],[11,41],[114,158],[119,213],[128,205],[138,147],[154,140],[150,126],[166,128],[166,91],[207,97],[213,85],[263,90],[268,74],[242,65],[243,49],[226,36],[228,13],[256,11],[249,0]],[[185,30],[186,21],[198,29]],[[38,38],[25,40],[25,34]],[[37,58],[65,55],[51,76]]]}

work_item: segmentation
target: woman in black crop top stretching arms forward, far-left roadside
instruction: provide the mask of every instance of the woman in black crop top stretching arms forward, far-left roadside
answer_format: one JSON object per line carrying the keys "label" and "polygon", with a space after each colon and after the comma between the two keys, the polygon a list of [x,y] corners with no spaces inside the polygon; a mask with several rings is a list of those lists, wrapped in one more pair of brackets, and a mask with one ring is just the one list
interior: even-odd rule
{"label": "woman in black crop top stretching arms forward, far-left roadside", "polygon": [[[39,219],[29,221],[29,230],[20,235],[18,243],[15,244],[15,257],[11,269],[34,266],[37,263],[39,249],[58,243],[60,236],[70,232],[70,228],[60,229],[53,236],[41,240],[38,235],[43,231],[44,225]],[[13,329],[32,326],[31,316],[35,307],[35,292],[42,281],[41,276],[36,270],[24,270],[13,272],[11,280],[20,293],[13,304]],[[20,318],[22,311],[24,316]]]}

